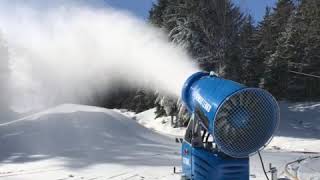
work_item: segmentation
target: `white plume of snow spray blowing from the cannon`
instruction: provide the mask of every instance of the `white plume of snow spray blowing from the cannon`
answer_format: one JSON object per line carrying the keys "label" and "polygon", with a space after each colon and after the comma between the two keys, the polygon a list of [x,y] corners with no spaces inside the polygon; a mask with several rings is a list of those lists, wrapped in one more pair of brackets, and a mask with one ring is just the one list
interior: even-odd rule
{"label": "white plume of snow spray blowing from the cannon", "polygon": [[40,108],[108,92],[115,80],[180,95],[197,67],[156,28],[113,9],[1,5],[15,104]]}

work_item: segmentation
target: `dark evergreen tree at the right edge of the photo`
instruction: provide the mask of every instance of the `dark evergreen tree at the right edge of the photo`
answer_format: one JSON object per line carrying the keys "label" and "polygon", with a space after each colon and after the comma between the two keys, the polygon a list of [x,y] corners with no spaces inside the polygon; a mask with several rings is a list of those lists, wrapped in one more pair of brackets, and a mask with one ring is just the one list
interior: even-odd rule
{"label": "dark evergreen tree at the right edge of the photo", "polygon": [[301,1],[294,12],[270,57],[272,81],[269,83],[273,85],[272,92],[280,98],[319,98],[319,79],[303,75],[319,75],[319,2]]}

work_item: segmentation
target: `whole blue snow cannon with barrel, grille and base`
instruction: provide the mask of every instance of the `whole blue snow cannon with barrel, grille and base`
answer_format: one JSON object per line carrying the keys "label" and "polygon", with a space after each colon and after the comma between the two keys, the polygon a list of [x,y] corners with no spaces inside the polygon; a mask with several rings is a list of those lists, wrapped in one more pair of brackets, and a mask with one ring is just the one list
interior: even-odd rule
{"label": "whole blue snow cannon with barrel, grille and base", "polygon": [[249,180],[249,156],[270,142],[279,124],[275,98],[198,72],[185,82],[181,99],[192,114],[182,140],[182,179]]}

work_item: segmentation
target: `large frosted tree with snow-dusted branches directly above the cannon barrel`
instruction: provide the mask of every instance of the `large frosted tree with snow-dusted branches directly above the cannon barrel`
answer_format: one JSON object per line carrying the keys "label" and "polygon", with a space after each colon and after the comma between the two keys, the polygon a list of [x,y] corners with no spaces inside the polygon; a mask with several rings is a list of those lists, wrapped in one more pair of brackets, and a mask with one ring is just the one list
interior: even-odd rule
{"label": "large frosted tree with snow-dusted branches directly above the cannon barrel", "polygon": [[[156,8],[160,9],[154,6],[150,16]],[[233,53],[227,50],[235,44],[243,21],[240,9],[230,0],[170,0],[163,11],[158,21],[169,39],[187,49],[202,69],[223,74],[226,54],[231,58]]]}

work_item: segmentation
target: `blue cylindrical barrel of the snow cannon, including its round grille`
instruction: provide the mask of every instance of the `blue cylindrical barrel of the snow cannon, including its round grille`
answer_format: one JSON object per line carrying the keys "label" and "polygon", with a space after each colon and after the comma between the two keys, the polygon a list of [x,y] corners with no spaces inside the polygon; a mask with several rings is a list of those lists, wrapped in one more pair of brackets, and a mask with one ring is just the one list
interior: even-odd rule
{"label": "blue cylindrical barrel of the snow cannon, including its round grille", "polygon": [[214,73],[190,76],[182,100],[214,136],[217,147],[235,158],[248,157],[265,147],[279,124],[279,106],[270,93]]}

